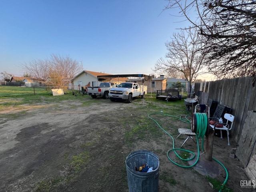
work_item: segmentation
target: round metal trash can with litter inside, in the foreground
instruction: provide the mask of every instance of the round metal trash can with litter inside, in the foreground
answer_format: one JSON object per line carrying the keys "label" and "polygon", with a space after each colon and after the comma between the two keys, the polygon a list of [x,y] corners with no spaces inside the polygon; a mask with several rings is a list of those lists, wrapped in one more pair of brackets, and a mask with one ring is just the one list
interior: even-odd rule
{"label": "round metal trash can with litter inside, in the foreground", "polygon": [[[144,164],[153,167],[152,172],[138,172]],[[158,192],[159,157],[147,150],[131,152],[125,160],[129,192]]]}

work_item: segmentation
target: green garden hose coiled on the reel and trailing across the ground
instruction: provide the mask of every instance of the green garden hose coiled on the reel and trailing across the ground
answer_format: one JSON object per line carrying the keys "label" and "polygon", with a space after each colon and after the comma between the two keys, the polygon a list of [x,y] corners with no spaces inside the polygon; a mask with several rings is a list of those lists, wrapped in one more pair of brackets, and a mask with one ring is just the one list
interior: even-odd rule
{"label": "green garden hose coiled on the reel and trailing across the ground", "polygon": [[[190,165],[190,166],[183,166],[183,165],[180,165],[180,164],[174,162],[174,161],[169,157],[169,152],[171,152],[171,151],[174,151],[174,153],[176,154],[176,156],[178,156],[181,160],[184,160],[184,161],[193,160],[196,155],[194,154],[194,152],[192,152],[192,151],[190,151],[190,150],[181,149],[181,148],[175,148],[175,147],[174,147],[174,138],[173,138],[168,132],[166,132],[166,130],[164,130],[164,129],[158,124],[158,122],[157,122],[154,118],[150,117],[150,115],[153,115],[153,114],[160,114],[160,115],[164,115],[164,116],[170,116],[170,117],[174,117],[174,118],[179,118],[181,121],[183,121],[183,122],[185,122],[185,123],[190,123],[190,120],[187,118],[187,117],[190,116],[190,115],[186,115],[186,116],[185,116],[185,119],[183,119],[182,116],[178,117],[178,116],[173,116],[173,115],[168,115],[168,114],[163,114],[163,113],[151,113],[151,114],[148,115],[148,118],[150,118],[150,119],[152,119],[154,122],[156,122],[156,124],[157,124],[166,134],[168,134],[168,136],[170,136],[170,137],[172,138],[172,147],[173,147],[173,148],[170,149],[170,150],[168,150],[168,152],[167,152],[167,157],[168,157],[168,159],[169,159],[172,163],[176,164],[177,166],[183,167],[183,168],[190,168],[190,167],[192,167],[192,166],[195,166],[195,165],[197,164],[198,160],[199,160],[199,157],[200,157],[200,148],[199,148],[199,141],[198,141],[200,138],[202,138],[202,150],[204,151],[204,136],[205,136],[206,130],[207,130],[207,128],[208,128],[208,116],[207,116],[207,114],[206,114],[206,113],[195,113],[195,114],[194,114],[194,115],[196,116],[196,122],[197,122],[197,123],[196,123],[196,131],[195,131],[195,133],[196,133],[196,144],[197,144],[197,151],[198,151],[197,153],[198,153],[198,155],[197,155],[197,158],[196,158],[196,161],[194,162],[194,164],[192,164],[192,165]],[[193,156],[192,156],[191,158],[188,158],[188,159],[183,159],[182,157],[179,156],[179,154],[176,152],[176,150],[186,151],[186,152],[192,154]],[[212,158],[212,159],[215,160],[216,162],[218,162],[218,163],[224,168],[224,170],[225,170],[225,172],[226,172],[226,179],[225,179],[225,181],[223,182],[223,184],[222,184],[222,186],[221,186],[221,188],[220,188],[220,190],[219,190],[219,192],[221,192],[223,186],[224,186],[224,185],[226,184],[226,182],[228,181],[228,170],[226,169],[226,167],[225,167],[221,162],[219,162],[219,161],[216,160],[215,158]]]}

